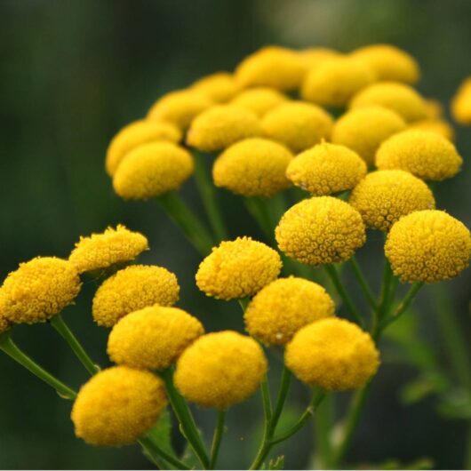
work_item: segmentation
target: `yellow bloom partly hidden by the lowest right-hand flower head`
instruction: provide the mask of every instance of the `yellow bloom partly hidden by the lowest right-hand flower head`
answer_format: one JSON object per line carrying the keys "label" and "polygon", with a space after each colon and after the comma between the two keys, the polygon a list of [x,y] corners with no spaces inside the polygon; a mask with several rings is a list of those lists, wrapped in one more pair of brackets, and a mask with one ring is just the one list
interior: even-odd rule
{"label": "yellow bloom partly hidden by the lowest right-hand flower head", "polygon": [[279,278],[267,284],[245,310],[245,328],[267,345],[284,345],[308,323],[333,315],[335,305],[320,284]]}

